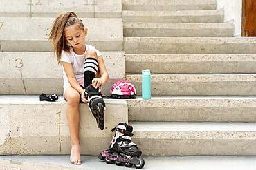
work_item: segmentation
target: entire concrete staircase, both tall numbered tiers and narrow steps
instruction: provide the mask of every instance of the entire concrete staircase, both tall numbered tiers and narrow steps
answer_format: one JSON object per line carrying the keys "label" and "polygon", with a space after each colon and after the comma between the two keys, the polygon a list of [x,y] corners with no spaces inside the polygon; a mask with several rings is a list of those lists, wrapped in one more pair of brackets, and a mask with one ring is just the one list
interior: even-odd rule
{"label": "entire concrete staircase, both tall numbered tiers and narrow steps", "polygon": [[[65,156],[44,156],[70,151],[62,96],[56,103],[39,101],[42,92],[62,94],[62,68],[46,37],[64,10],[82,17],[89,27],[87,43],[102,51],[110,74],[104,94],[120,78],[138,91],[134,100],[106,100],[104,131],[97,129],[88,106],[80,105],[82,154],[107,149],[111,128],[124,121],[134,126],[133,141],[149,156],[145,169],[163,164],[161,169],[234,170],[242,162],[253,169],[256,40],[232,37],[232,23],[224,23],[216,8],[215,0],[5,1],[0,6],[0,155],[39,156],[0,156],[0,170],[124,168],[94,156],[84,158],[81,167],[65,164]],[[152,71],[151,100],[140,97],[145,68]]]}

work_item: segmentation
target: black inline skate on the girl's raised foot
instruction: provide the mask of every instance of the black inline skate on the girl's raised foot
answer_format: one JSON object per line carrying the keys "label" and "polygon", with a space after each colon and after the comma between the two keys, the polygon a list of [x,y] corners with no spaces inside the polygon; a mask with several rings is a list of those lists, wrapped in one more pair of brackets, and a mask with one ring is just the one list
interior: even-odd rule
{"label": "black inline skate on the girl's raised foot", "polygon": [[88,100],[89,109],[97,121],[98,128],[103,130],[104,111],[106,110],[106,105],[101,96],[99,88],[95,89],[93,85],[87,86],[85,89],[84,96]]}

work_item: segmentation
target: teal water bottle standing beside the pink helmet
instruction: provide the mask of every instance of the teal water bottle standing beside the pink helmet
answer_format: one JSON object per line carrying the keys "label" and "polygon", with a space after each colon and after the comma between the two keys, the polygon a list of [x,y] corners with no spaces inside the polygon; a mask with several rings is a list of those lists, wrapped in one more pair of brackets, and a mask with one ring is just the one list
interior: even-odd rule
{"label": "teal water bottle standing beside the pink helmet", "polygon": [[142,86],[141,92],[143,99],[151,98],[151,73],[149,69],[145,69],[142,72]]}

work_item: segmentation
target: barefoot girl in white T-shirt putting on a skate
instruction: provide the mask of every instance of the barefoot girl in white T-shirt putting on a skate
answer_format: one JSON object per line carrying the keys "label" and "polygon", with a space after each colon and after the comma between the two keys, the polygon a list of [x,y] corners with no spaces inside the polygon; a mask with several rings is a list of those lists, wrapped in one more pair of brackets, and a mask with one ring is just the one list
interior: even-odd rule
{"label": "barefoot girl in white T-shirt putting on a skate", "polygon": [[[85,97],[88,95],[84,96],[84,94],[90,94],[88,88],[84,88],[90,86],[91,89],[98,92],[99,87],[107,83],[109,79],[102,54],[95,47],[85,43],[87,32],[88,29],[84,27],[82,20],[77,18],[75,12],[62,12],[55,19],[48,36],[53,45],[53,52],[57,56],[57,62],[63,67],[63,96],[67,101],[66,114],[71,134],[70,160],[72,164],[77,165],[82,164],[79,139],[79,103],[81,101],[88,103],[88,98]],[[102,100],[102,98],[100,99]],[[95,115],[93,112],[93,115],[97,118],[97,113]]]}

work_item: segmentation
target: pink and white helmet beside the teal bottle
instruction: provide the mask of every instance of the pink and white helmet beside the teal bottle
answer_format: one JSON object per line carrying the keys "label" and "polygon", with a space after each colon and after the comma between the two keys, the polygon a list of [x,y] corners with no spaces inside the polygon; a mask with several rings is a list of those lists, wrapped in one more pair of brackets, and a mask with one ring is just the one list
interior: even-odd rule
{"label": "pink and white helmet beside the teal bottle", "polygon": [[113,83],[110,94],[111,98],[135,98],[136,89],[129,81],[120,80]]}

